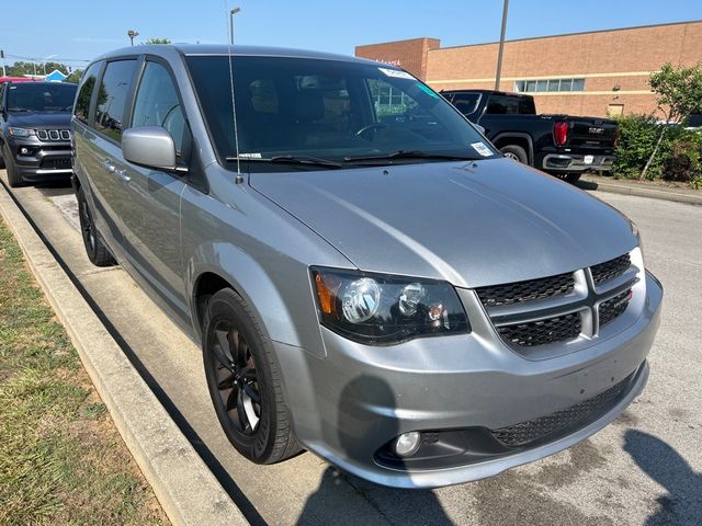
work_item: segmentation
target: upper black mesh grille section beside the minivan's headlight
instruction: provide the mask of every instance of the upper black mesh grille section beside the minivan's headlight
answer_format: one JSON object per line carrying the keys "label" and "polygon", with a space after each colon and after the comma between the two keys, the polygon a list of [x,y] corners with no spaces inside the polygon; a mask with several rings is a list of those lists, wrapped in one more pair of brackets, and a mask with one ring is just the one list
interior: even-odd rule
{"label": "upper black mesh grille section beside the minivan's headlight", "polygon": [[498,307],[500,305],[563,296],[573,291],[574,287],[575,279],[573,274],[567,273],[528,282],[480,287],[476,289],[476,293],[485,307]]}

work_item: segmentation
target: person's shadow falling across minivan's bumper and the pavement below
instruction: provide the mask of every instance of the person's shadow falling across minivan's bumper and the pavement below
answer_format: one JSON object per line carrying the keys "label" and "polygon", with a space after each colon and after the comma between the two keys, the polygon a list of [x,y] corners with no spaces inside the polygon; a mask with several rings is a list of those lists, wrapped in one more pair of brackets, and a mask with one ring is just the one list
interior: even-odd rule
{"label": "person's shadow falling across minivan's bumper and the pavement below", "polygon": [[[396,436],[400,433],[393,419],[378,419],[375,411],[381,410],[382,413],[388,414],[396,407],[395,395],[385,380],[370,375],[354,378],[341,390],[339,397],[336,433],[340,449],[351,459],[367,461],[364,455],[359,453],[359,443],[363,443],[366,437],[373,435]],[[367,514],[353,506],[344,510],[343,500],[340,502],[339,496],[341,488],[346,487],[348,491],[349,485],[377,513]],[[297,525],[319,524],[319,510],[329,505],[338,506],[338,518],[335,518],[335,524],[370,525],[377,524],[378,519],[382,524],[404,526],[454,524],[434,492],[430,490],[386,488],[350,473],[340,472],[333,467],[326,469],[317,491],[307,499]],[[388,508],[389,513],[387,513]]]}

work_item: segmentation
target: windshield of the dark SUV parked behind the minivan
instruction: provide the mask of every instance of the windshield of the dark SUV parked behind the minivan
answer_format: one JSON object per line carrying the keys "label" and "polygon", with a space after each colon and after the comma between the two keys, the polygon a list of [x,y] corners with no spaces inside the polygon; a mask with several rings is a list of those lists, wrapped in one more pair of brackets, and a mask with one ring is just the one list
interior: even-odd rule
{"label": "windshield of the dark SUV parked behind the minivan", "polygon": [[10,84],[7,107],[9,112],[70,112],[76,88],[59,82]]}

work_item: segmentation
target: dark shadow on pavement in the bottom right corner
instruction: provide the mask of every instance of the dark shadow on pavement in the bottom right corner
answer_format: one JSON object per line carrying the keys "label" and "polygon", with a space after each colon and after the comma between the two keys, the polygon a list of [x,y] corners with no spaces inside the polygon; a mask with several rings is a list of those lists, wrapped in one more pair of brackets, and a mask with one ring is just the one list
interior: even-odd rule
{"label": "dark shadow on pavement in the bottom right corner", "polygon": [[702,473],[697,473],[678,451],[648,433],[629,430],[624,435],[624,450],[668,492],[658,498],[660,507],[646,519],[646,526],[700,524]]}

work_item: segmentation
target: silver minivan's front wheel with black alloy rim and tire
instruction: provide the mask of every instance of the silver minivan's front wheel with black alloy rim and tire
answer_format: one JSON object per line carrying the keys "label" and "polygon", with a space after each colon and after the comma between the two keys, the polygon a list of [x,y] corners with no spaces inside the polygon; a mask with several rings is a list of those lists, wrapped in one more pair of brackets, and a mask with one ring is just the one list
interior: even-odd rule
{"label": "silver minivan's front wheel with black alloy rim and tire", "polygon": [[217,419],[241,455],[274,464],[299,453],[271,344],[230,288],[207,302],[203,357]]}

